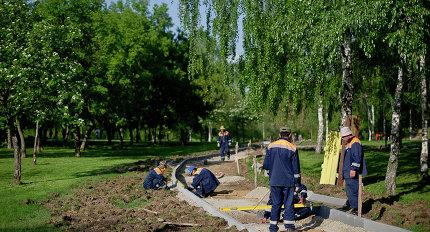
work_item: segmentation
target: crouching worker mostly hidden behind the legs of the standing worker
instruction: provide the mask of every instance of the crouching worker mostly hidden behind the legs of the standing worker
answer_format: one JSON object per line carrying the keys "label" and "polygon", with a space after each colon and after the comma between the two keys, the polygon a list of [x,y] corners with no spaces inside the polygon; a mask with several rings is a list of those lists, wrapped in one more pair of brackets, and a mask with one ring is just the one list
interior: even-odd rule
{"label": "crouching worker mostly hidden behind the legs of the standing worker", "polygon": [[[299,185],[295,188],[293,204],[302,204],[305,207],[294,207],[294,220],[301,220],[308,217],[312,210],[306,206],[306,198],[308,197],[307,188],[304,184]],[[269,197],[268,205],[272,204],[272,199]],[[264,211],[264,222],[270,219],[270,211]]]}

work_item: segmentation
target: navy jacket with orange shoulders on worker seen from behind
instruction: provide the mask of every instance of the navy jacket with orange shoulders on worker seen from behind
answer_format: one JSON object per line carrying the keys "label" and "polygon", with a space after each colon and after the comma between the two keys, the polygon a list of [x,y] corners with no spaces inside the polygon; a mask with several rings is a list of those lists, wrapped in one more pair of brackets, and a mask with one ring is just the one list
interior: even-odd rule
{"label": "navy jacket with orange shoulders on worker seen from behind", "polygon": [[286,139],[270,143],[263,168],[269,171],[270,186],[293,187],[300,185],[299,152]]}

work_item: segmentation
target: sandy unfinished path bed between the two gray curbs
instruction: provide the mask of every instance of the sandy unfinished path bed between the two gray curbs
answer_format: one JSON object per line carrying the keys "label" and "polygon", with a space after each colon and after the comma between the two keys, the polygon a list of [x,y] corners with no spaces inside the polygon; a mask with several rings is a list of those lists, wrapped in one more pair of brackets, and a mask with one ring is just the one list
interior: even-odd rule
{"label": "sandy unfinished path bed between the two gray curbs", "polygon": [[[244,153],[239,153],[244,157]],[[216,175],[224,173],[224,177],[220,178],[220,186],[216,189],[215,195],[205,200],[215,207],[228,206],[249,206],[256,205],[261,201],[260,205],[267,202],[269,198],[268,189],[265,187],[254,188],[254,183],[237,174],[236,163],[234,156],[230,161],[220,162],[218,157],[207,160],[207,162],[194,162],[193,165],[205,167],[211,170]],[[242,165],[241,173],[246,173],[246,167]],[[245,174],[246,176],[246,174]],[[192,178],[185,177],[187,183],[191,183]],[[262,224],[260,217],[261,212],[258,211],[231,211],[229,215],[236,218],[244,224],[252,225],[257,231],[268,231],[269,224]],[[282,224],[279,224],[282,229]],[[352,227],[341,222],[323,219],[318,216],[310,216],[306,219],[296,221],[296,228],[300,231],[339,231],[339,232],[362,232],[361,228]],[[282,230],[281,230],[282,231]]]}

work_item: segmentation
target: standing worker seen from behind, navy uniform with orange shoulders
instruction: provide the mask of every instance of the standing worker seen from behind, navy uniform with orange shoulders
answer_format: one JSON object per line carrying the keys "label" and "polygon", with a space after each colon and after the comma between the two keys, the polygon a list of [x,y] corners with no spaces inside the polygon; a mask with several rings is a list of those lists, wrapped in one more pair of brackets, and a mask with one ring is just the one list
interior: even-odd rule
{"label": "standing worker seen from behind, navy uniform with orange shoulders", "polygon": [[284,226],[286,231],[295,231],[294,226],[294,190],[301,186],[299,152],[291,141],[291,130],[281,127],[279,140],[269,144],[263,168],[269,171],[271,232],[278,231],[281,207],[284,204]]}

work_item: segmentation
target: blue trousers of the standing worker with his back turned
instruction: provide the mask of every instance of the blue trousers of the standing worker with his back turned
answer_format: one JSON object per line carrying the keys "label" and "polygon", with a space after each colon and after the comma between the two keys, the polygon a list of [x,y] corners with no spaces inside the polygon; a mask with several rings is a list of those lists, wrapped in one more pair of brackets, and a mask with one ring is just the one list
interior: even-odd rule
{"label": "blue trousers of the standing worker with his back turned", "polygon": [[270,186],[272,197],[272,210],[270,212],[270,232],[278,231],[278,221],[281,215],[281,207],[284,204],[284,226],[294,229],[294,187]]}

